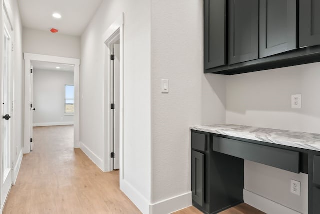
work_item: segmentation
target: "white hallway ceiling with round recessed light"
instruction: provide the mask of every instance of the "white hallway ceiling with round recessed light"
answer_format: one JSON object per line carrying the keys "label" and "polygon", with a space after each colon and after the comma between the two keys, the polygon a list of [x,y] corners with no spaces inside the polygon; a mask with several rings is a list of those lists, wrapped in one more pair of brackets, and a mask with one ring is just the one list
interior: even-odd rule
{"label": "white hallway ceiling with round recessed light", "polygon": [[[80,36],[103,0],[18,0],[24,27]],[[53,13],[62,18],[52,17]]]}

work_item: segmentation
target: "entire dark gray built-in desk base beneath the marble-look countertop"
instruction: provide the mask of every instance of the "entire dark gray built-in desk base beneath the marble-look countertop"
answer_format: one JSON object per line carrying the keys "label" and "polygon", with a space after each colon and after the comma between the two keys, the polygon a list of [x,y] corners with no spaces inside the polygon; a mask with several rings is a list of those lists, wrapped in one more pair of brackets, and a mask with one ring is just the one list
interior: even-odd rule
{"label": "entire dark gray built-in desk base beneath the marble-look countertop", "polygon": [[308,174],[308,213],[320,213],[320,152],[195,130],[191,148],[192,202],[202,212],[219,213],[243,202],[247,159]]}

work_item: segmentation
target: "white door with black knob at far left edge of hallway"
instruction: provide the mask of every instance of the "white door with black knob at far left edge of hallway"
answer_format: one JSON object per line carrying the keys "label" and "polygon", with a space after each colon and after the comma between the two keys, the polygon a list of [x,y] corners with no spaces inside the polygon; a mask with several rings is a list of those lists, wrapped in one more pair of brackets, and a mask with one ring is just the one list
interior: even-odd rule
{"label": "white door with black knob at far left edge of hallway", "polygon": [[[6,13],[4,13],[6,14]],[[1,188],[1,208],[12,186],[11,177],[11,71],[12,71],[12,51],[13,32],[7,16],[4,16],[4,37],[3,45],[3,67],[2,67],[2,188]]]}

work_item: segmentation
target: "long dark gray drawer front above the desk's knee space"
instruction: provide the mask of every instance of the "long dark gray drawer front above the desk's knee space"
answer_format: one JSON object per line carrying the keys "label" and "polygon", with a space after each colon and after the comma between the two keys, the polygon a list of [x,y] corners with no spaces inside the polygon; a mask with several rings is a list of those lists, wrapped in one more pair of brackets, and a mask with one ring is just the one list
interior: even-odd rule
{"label": "long dark gray drawer front above the desk's knee space", "polygon": [[246,160],[299,173],[299,152],[270,146],[213,137],[213,150]]}

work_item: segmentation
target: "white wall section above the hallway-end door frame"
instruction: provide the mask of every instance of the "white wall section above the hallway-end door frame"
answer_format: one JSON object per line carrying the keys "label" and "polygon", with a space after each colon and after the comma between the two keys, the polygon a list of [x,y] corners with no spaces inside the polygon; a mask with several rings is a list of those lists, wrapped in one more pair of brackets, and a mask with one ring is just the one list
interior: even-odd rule
{"label": "white wall section above the hallway-end door frame", "polygon": [[80,37],[23,28],[23,52],[80,58]]}

